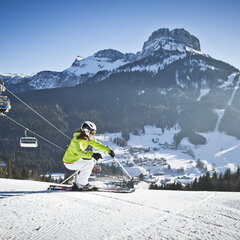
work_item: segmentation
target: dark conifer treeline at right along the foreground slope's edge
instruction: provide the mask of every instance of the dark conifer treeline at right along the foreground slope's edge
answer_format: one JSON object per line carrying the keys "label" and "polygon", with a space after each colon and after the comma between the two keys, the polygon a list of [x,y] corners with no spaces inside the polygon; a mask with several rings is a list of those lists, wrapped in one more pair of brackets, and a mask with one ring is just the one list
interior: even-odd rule
{"label": "dark conifer treeline at right along the foreground slope's edge", "polygon": [[158,186],[151,184],[150,189],[157,190],[187,190],[187,191],[232,191],[240,192],[240,168],[238,167],[235,173],[231,173],[227,169],[225,173],[219,175],[214,172],[212,176],[210,172],[205,175],[195,178],[194,182],[187,185],[174,182],[172,184],[162,184]]}

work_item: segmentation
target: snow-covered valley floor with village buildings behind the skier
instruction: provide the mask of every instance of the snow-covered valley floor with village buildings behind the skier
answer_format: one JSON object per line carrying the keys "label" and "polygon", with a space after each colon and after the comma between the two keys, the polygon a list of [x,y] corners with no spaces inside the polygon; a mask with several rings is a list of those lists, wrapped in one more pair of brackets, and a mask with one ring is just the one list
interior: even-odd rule
{"label": "snow-covered valley floor with village buildings behind the skier", "polygon": [[[114,143],[121,134],[97,135],[96,139],[110,146],[117,158],[132,176],[145,175],[149,182],[183,184],[193,182],[206,170],[224,173],[230,168],[232,172],[240,165],[240,142],[235,137],[218,131],[201,133],[207,139],[205,145],[194,146],[184,138],[178,148],[174,146],[174,135],[179,127],[162,129],[145,126],[145,133],[130,134],[127,146],[122,148]],[[111,163],[109,156],[104,155],[104,162]],[[203,167],[198,166],[198,162]]]}

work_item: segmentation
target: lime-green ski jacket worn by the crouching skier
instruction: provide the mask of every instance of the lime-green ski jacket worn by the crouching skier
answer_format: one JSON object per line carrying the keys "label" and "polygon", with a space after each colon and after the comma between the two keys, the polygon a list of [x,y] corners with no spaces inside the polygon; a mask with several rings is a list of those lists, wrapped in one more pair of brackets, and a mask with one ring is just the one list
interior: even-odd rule
{"label": "lime-green ski jacket worn by the crouching skier", "polygon": [[109,151],[111,150],[111,148],[101,144],[93,138],[91,140],[77,139],[79,135],[80,133],[78,132],[74,133],[73,139],[71,140],[70,145],[64,154],[63,162],[74,163],[81,158],[92,158],[93,152],[85,151],[88,145],[105,153],[109,153]]}

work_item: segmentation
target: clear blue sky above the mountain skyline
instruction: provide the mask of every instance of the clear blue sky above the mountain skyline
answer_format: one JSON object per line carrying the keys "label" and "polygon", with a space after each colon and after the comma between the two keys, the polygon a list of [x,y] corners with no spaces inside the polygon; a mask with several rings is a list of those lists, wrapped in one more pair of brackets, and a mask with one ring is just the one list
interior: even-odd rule
{"label": "clear blue sky above the mountain skyline", "polygon": [[0,72],[63,71],[79,55],[141,51],[159,28],[184,28],[240,69],[239,0],[0,0]]}

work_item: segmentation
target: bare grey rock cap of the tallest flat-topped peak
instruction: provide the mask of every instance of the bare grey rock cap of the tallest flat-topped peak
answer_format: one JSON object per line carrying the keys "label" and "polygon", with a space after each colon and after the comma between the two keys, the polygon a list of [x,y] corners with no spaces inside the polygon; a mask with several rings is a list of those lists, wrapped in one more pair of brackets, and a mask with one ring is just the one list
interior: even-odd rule
{"label": "bare grey rock cap of the tallest flat-topped peak", "polygon": [[157,31],[153,32],[148,40],[143,45],[143,50],[146,49],[152,42],[160,39],[171,39],[176,43],[183,43],[187,46],[201,51],[200,49],[200,42],[198,38],[191,35],[188,31],[183,28],[176,28],[170,31],[168,28],[160,28]]}

